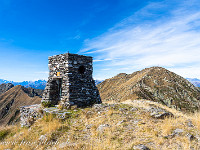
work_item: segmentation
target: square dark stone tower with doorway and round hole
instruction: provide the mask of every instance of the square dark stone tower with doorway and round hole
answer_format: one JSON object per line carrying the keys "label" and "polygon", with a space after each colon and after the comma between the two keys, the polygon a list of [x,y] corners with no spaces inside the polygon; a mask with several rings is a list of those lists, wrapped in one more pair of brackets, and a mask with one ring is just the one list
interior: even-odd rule
{"label": "square dark stone tower with doorway and round hole", "polygon": [[42,103],[79,107],[101,103],[92,78],[92,57],[66,53],[48,59],[49,78]]}

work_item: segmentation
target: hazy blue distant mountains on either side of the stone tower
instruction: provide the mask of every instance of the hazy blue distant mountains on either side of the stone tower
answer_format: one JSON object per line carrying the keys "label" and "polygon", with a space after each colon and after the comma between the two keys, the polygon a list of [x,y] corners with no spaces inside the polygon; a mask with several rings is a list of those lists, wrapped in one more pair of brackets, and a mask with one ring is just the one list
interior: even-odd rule
{"label": "hazy blue distant mountains on either side of the stone tower", "polygon": [[[99,84],[101,83],[103,80],[95,80],[95,84]],[[37,81],[23,81],[23,82],[14,82],[14,81],[8,81],[8,80],[3,80],[0,79],[0,84],[2,83],[12,83],[14,86],[16,85],[22,85],[26,88],[31,87],[34,89],[41,89],[44,90],[44,88],[46,87],[46,80],[37,80]]]}

